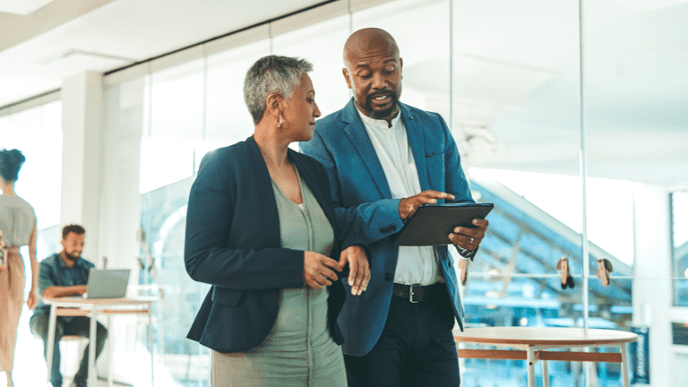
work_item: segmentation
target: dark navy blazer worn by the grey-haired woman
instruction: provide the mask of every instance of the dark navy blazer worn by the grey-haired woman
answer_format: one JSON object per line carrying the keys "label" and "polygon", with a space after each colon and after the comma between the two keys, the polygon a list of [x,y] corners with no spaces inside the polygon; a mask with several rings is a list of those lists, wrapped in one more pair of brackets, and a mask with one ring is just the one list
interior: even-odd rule
{"label": "dark navy blazer worn by the grey-haired woman", "polygon": [[[352,222],[338,219],[323,165],[294,150],[296,165],[334,230],[331,257],[356,245]],[[187,338],[221,353],[253,348],[270,333],[281,288],[304,285],[304,252],[281,247],[280,218],[271,177],[253,137],[208,153],[189,194],[185,238],[186,271],[212,285]],[[330,287],[328,327],[341,344],[337,324],[346,298],[340,281]]]}

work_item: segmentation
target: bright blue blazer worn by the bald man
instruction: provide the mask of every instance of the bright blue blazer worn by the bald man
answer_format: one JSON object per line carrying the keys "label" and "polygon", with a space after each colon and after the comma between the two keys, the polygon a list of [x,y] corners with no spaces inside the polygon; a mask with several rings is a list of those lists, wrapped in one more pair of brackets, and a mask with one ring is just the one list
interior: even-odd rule
{"label": "bright blue blazer worn by the bald man", "polygon": [[[460,166],[459,150],[442,116],[400,103],[409,146],[423,191],[452,193],[453,202],[474,202]],[[382,334],[390,309],[398,247],[389,236],[403,225],[400,199],[391,199],[390,187],[373,143],[353,99],[315,124],[314,138],[301,150],[327,168],[338,212],[362,219],[357,232],[371,250],[371,279],[360,297],[348,297],[340,314],[345,354],[364,356]],[[356,214],[356,215],[355,215]],[[436,247],[456,319],[463,329],[463,307],[452,257],[447,246]],[[345,283],[344,287],[348,289]]]}

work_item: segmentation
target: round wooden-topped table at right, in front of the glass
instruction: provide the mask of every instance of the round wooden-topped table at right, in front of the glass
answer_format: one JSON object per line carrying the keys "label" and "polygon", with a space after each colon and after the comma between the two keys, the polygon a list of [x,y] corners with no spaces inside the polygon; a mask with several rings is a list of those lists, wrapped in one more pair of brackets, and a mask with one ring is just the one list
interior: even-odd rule
{"label": "round wooden-topped table at right, in front of the glass", "polygon": [[[626,344],[638,340],[627,331],[582,328],[486,327],[454,331],[454,340],[503,349],[458,349],[459,357],[528,361],[528,385],[535,387],[535,364],[542,361],[544,387],[549,387],[547,360],[621,363],[624,387],[629,387]],[[555,352],[554,348],[618,347],[620,353]]]}

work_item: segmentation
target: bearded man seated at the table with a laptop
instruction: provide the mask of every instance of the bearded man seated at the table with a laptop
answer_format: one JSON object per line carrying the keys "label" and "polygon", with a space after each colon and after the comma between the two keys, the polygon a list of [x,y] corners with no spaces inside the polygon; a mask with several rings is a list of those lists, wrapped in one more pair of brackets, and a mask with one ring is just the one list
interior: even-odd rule
{"label": "bearded man seated at the table with a laptop", "polygon": [[[39,293],[41,297],[68,297],[81,296],[86,293],[86,283],[89,280],[89,271],[95,265],[82,258],[83,236],[86,231],[79,225],[65,226],[62,229],[62,252],[53,254],[40,262]],[[50,305],[43,303],[42,299],[36,307],[30,319],[30,327],[33,334],[43,339],[43,356],[47,355],[47,325],[50,317]],[[60,316],[57,317],[55,329],[55,345],[53,347],[53,365],[50,370],[50,383],[53,387],[62,386],[62,374],[60,374],[60,346],[63,336],[89,337],[90,318]],[[107,330],[101,323],[96,328],[96,357],[105,346]],[[90,345],[89,345],[90,346]],[[89,346],[83,352],[82,363],[79,371],[74,375],[76,387],[86,386],[89,375]]]}

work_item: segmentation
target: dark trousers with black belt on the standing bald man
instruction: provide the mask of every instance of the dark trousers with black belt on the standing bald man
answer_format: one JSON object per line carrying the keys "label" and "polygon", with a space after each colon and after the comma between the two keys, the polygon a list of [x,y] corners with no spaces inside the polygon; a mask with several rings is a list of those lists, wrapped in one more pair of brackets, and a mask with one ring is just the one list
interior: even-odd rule
{"label": "dark trousers with black belt on the standing bald man", "polygon": [[454,314],[444,284],[432,297],[412,304],[391,297],[383,334],[363,357],[344,355],[349,387],[458,386],[459,358],[452,329]]}

